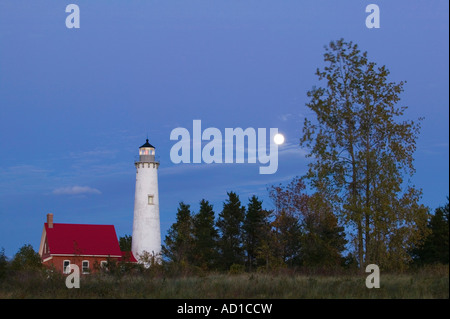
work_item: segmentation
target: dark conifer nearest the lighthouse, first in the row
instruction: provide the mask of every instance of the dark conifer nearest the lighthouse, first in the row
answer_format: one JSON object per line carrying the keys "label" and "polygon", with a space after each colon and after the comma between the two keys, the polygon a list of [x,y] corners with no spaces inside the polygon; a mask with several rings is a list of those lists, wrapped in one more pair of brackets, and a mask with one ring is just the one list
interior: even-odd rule
{"label": "dark conifer nearest the lighthouse, first in the row", "polygon": [[180,202],[176,222],[172,224],[162,247],[162,254],[169,261],[187,266],[192,260],[192,216],[190,206]]}

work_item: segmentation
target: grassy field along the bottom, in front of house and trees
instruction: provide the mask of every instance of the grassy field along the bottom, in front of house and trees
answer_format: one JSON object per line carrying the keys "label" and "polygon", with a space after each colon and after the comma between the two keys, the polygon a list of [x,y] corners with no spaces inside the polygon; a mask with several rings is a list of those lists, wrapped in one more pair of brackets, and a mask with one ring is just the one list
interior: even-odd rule
{"label": "grassy field along the bottom, in front of house and trees", "polygon": [[21,273],[0,282],[0,298],[402,298],[448,299],[448,266],[433,271],[381,274],[368,289],[362,275],[243,273],[166,278],[145,275],[87,275],[68,289],[63,276]]}

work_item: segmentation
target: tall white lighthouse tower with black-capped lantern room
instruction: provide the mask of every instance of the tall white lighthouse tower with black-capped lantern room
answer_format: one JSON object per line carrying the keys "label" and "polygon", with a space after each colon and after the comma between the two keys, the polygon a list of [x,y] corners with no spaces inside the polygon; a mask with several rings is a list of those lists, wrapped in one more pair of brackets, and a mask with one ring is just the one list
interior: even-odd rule
{"label": "tall white lighthouse tower with black-capped lantern room", "polygon": [[134,219],[131,251],[136,259],[144,253],[156,256],[161,252],[159,223],[158,166],[155,147],[147,141],[139,147],[136,166]]}

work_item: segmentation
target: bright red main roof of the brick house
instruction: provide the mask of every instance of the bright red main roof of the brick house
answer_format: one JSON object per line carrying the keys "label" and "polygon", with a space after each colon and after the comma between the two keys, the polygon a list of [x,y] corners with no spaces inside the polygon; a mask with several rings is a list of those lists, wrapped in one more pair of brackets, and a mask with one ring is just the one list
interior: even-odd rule
{"label": "bright red main roof of the brick house", "polygon": [[45,223],[45,232],[51,255],[122,256],[113,225]]}

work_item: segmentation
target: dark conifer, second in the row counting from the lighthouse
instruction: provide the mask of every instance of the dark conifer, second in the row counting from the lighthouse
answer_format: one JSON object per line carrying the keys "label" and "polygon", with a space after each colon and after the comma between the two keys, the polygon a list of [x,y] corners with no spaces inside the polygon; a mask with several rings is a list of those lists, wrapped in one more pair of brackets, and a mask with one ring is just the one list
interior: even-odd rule
{"label": "dark conifer, second in the row counting from the lighthouse", "polygon": [[218,231],[215,227],[214,210],[207,200],[200,202],[200,211],[193,218],[194,264],[212,269],[217,260]]}

